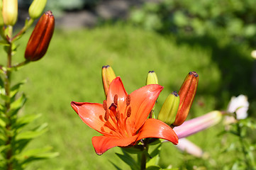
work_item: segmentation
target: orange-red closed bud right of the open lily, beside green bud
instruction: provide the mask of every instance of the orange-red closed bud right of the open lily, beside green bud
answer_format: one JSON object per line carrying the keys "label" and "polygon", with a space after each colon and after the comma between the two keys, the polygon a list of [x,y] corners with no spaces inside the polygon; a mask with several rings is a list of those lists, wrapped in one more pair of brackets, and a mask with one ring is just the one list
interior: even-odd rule
{"label": "orange-red closed bud right of the open lily, beside green bud", "polygon": [[184,123],[196,95],[199,75],[196,72],[189,72],[179,89],[179,109],[172,125],[179,126]]}

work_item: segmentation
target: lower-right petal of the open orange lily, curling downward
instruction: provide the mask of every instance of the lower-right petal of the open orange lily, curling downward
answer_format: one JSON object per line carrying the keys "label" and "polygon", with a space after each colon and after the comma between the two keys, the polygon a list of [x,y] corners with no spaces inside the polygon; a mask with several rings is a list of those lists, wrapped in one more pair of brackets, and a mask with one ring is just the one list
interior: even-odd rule
{"label": "lower-right petal of the open orange lily, curling downward", "polygon": [[169,140],[169,142],[177,145],[179,140],[176,133],[174,130],[172,130],[172,128],[169,127],[169,125],[153,118],[149,118],[145,121],[138,134],[139,137],[137,141],[147,137],[157,137],[164,140]]}

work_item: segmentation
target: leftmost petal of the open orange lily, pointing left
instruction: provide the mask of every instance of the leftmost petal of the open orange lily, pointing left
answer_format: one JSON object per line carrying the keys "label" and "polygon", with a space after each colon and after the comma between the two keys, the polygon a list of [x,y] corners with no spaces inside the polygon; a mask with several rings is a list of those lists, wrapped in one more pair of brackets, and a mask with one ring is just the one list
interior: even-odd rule
{"label": "leftmost petal of the open orange lily, pointing left", "polygon": [[101,127],[104,126],[104,108],[100,103],[83,103],[83,102],[71,102],[71,106],[74,111],[77,112],[79,117],[90,128],[97,130],[101,134],[106,135],[106,132],[102,132]]}

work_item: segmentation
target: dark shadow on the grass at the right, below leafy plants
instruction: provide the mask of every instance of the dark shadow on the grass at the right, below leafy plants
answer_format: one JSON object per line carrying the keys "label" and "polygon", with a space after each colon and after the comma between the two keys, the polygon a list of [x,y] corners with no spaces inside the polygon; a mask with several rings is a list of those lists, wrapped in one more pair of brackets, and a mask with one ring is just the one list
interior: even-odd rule
{"label": "dark shadow on the grass at the right, below leafy plants", "polygon": [[[191,47],[201,46],[211,49],[211,60],[218,64],[222,77],[219,82],[220,88],[218,91],[212,91],[212,94],[210,94],[218,98],[217,108],[223,108],[225,100],[229,101],[231,96],[238,96],[239,94],[245,94],[252,103],[255,103],[256,88],[253,83],[253,76],[255,76],[253,75],[253,70],[255,69],[254,62],[248,57],[250,54],[245,54],[245,50],[239,47],[239,45],[232,43],[219,45],[218,40],[211,36],[201,38],[177,36],[177,44],[186,44]],[[213,87],[209,86],[208,88]],[[207,93],[207,91],[204,91],[204,94],[205,92]],[[251,106],[252,103],[250,103]]]}

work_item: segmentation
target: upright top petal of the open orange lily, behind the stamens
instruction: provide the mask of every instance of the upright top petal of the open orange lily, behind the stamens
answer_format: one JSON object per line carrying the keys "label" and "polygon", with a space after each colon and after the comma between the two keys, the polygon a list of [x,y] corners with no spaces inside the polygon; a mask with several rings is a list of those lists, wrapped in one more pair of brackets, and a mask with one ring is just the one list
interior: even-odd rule
{"label": "upright top petal of the open orange lily, behind the stamens", "polygon": [[[120,77],[116,77],[116,79],[113,79],[111,82],[109,89],[108,89],[108,96],[107,96],[107,104],[108,106],[111,106],[111,103],[113,103],[113,98],[115,95],[118,95],[118,106],[126,106],[126,97],[127,92],[126,89],[123,87],[123,82]],[[123,108],[119,108],[120,111],[124,110]]]}

